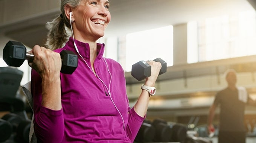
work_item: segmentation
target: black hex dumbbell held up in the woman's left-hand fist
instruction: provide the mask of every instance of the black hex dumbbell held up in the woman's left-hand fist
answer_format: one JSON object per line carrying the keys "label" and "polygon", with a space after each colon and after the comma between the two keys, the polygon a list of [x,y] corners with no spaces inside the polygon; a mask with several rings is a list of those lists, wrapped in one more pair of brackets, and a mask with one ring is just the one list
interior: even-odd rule
{"label": "black hex dumbbell held up in the woman's left-hand fist", "polygon": [[[25,59],[34,59],[34,55],[26,51],[26,47],[22,43],[9,41],[3,49],[3,59],[9,66],[20,67]],[[62,61],[61,73],[72,74],[78,65],[77,55],[68,50],[62,50],[60,55]]]}

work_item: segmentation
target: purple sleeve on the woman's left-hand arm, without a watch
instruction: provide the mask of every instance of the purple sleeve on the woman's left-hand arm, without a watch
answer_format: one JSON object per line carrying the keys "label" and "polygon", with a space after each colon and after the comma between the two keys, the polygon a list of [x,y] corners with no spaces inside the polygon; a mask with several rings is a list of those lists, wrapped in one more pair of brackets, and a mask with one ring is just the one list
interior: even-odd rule
{"label": "purple sleeve on the woman's left-hand arm, without a watch", "polygon": [[31,93],[34,104],[34,130],[40,143],[59,143],[64,137],[63,109],[51,110],[41,106],[41,77],[35,70],[31,72]]}

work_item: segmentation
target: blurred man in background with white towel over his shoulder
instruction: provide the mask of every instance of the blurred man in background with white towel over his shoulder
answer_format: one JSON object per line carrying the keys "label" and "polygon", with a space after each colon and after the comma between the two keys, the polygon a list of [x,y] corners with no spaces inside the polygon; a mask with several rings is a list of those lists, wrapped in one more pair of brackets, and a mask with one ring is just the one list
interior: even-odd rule
{"label": "blurred man in background with white towel over his shoulder", "polygon": [[225,72],[227,87],[219,91],[210,106],[208,132],[214,131],[212,121],[215,109],[220,105],[218,143],[245,143],[246,129],[244,126],[245,105],[255,104],[244,87],[236,87],[236,71]]}

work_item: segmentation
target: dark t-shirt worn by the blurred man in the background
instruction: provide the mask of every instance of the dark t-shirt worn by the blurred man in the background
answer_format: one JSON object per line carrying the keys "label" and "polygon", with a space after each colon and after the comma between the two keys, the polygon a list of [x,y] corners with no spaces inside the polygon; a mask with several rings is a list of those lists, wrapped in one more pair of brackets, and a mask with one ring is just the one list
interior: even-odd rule
{"label": "dark t-shirt worn by the blurred man in the background", "polygon": [[246,103],[238,99],[238,90],[226,88],[216,94],[214,104],[220,105],[220,131],[245,131],[244,110]]}

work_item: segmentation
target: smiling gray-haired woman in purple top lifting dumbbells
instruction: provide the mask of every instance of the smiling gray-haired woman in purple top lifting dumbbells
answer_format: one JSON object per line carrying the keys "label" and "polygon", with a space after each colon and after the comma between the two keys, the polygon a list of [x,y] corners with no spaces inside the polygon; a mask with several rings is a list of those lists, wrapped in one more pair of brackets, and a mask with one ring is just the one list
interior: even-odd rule
{"label": "smiling gray-haired woman in purple top lifting dumbbells", "polygon": [[[121,65],[104,58],[105,45],[96,43],[111,20],[109,5],[108,0],[61,0],[62,14],[48,23],[47,46],[55,52],[40,46],[30,51],[35,55],[29,65],[33,68],[34,129],[39,142],[134,141],[150,94],[142,90],[130,108]],[[65,26],[72,31],[69,39]],[[60,73],[61,50],[78,55],[78,68],[72,75]],[[144,84],[154,87],[161,64],[148,63],[151,76]]]}

